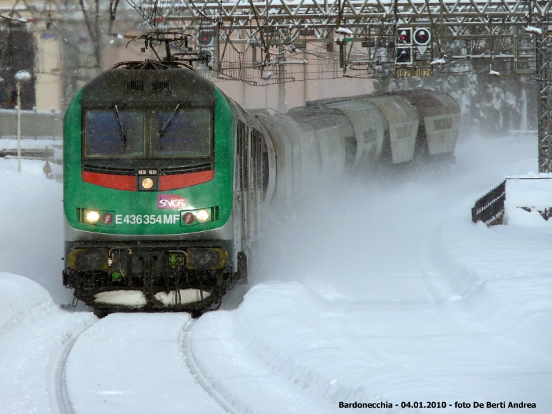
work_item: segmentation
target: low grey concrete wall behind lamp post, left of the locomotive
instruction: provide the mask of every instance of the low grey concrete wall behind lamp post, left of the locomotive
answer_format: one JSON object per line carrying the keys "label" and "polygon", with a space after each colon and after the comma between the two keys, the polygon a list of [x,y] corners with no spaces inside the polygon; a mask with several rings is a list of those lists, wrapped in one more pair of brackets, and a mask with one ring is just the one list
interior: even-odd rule
{"label": "low grey concrete wall behind lamp post, left of the locomotive", "polygon": [[[25,139],[61,139],[63,116],[51,110],[22,110],[21,137]],[[17,110],[0,110],[0,137],[17,137]]]}

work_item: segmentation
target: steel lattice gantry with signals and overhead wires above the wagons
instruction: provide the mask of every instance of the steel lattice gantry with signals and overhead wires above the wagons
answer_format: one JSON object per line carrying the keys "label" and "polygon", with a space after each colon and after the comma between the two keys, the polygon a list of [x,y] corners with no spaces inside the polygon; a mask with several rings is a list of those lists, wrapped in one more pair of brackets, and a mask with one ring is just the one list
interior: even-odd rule
{"label": "steel lattice gantry with signals and overhead wires above the wagons", "polygon": [[306,64],[298,52],[339,59],[342,76],[423,77],[488,65],[490,75],[533,77],[539,170],[552,171],[550,0],[127,1],[155,32],[195,37],[195,51],[212,55],[217,75],[250,83],[293,80],[282,68]]}

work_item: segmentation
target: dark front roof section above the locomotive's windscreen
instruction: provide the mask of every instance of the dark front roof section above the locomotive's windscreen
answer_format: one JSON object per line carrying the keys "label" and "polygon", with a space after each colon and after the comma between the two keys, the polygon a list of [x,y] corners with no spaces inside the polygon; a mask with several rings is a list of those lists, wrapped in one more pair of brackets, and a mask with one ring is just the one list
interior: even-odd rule
{"label": "dark front roof section above the locomotive's windscreen", "polygon": [[108,69],[82,88],[83,108],[214,106],[215,86],[194,70]]}

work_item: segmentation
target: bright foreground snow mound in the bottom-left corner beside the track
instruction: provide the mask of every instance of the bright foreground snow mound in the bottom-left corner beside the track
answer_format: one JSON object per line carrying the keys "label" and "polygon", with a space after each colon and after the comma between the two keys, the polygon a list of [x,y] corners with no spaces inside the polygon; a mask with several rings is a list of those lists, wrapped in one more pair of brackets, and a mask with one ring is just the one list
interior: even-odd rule
{"label": "bright foreground snow mound in the bottom-left corner beside the track", "polygon": [[0,304],[0,412],[63,412],[66,348],[97,318],[62,311],[39,284],[10,273],[0,273]]}

